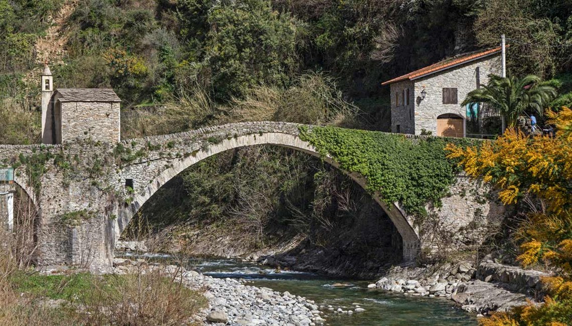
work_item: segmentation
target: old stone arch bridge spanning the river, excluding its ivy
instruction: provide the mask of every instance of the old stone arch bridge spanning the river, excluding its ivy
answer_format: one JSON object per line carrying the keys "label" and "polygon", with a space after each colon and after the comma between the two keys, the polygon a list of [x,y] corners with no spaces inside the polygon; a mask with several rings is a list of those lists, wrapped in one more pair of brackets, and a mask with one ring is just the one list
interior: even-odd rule
{"label": "old stone arch bridge spanning the river, excluding its ivy", "polygon": [[[319,157],[311,144],[300,139],[300,126],[241,122],[119,144],[78,139],[63,145],[0,145],[0,165],[15,168],[15,183],[37,209],[39,265],[105,267],[113,260],[115,241],[141,206],[194,163],[225,150],[263,144]],[[323,159],[337,166],[329,157]],[[362,176],[347,174],[366,185]],[[474,195],[467,194],[467,188],[476,189]],[[499,222],[502,206],[479,200],[484,192],[487,189],[459,176],[452,195],[435,210],[441,226],[457,231],[452,245],[462,249],[482,241],[486,226]],[[404,260],[414,261],[422,247],[431,248],[434,234],[420,230],[398,203],[385,204],[377,194],[372,197],[396,226]],[[478,227],[467,228],[475,221]]]}

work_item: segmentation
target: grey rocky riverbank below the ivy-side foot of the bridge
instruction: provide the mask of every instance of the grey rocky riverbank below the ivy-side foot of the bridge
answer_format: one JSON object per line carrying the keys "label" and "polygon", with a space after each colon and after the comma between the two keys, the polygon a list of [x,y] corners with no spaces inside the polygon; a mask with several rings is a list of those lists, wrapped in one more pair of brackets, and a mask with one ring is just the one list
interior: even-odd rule
{"label": "grey rocky riverbank below the ivy-side foot of the bridge", "polygon": [[394,267],[370,288],[412,296],[446,297],[462,309],[488,315],[542,299],[545,273],[495,263],[443,264],[426,268]]}

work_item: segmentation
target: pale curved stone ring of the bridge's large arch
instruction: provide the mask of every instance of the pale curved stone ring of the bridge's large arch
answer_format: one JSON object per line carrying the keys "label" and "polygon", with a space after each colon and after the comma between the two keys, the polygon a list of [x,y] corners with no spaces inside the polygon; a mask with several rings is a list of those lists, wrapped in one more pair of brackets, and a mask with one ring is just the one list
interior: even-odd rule
{"label": "pale curved stone ring of the bridge's large arch", "polygon": [[[123,230],[128,226],[130,220],[135,216],[138,210],[145,204],[159,190],[163,185],[176,177],[179,173],[183,172],[189,166],[204,160],[215,154],[241,148],[244,146],[253,145],[277,145],[285,148],[291,148],[310,154],[315,157],[321,157],[317,150],[308,142],[300,139],[297,135],[280,132],[269,132],[260,134],[246,134],[244,136],[237,136],[232,138],[225,138],[217,144],[211,144],[207,149],[201,149],[192,156],[188,156],[176,162],[163,170],[156,178],[149,182],[141,191],[134,195],[132,203],[128,207],[121,207],[120,214],[115,220],[114,225],[114,242],[118,240]],[[321,157],[328,164],[340,169],[339,164],[329,157]],[[340,169],[347,174],[353,181],[357,182],[360,186],[365,187],[367,181],[358,173],[349,173]],[[372,194],[372,198],[383,208],[388,214],[396,229],[402,236],[403,240],[403,259],[404,261],[414,261],[420,248],[419,236],[415,232],[410,220],[407,219],[406,213],[403,212],[396,204],[391,204],[388,207],[379,196],[379,194]],[[112,244],[114,245],[114,243]],[[110,248],[113,251],[113,247]]]}

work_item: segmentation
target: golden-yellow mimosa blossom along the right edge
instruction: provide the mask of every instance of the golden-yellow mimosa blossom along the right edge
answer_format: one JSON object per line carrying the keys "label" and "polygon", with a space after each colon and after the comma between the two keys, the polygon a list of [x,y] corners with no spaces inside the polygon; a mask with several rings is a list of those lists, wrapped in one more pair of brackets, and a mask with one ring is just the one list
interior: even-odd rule
{"label": "golden-yellow mimosa blossom along the right edge", "polygon": [[557,126],[556,137],[508,129],[480,147],[446,147],[468,176],[495,186],[504,204],[529,198],[537,205],[514,233],[523,241],[518,260],[525,266],[542,261],[559,275],[542,279],[549,295],[544,304],[496,313],[480,319],[483,326],[572,325],[572,110],[546,115]]}

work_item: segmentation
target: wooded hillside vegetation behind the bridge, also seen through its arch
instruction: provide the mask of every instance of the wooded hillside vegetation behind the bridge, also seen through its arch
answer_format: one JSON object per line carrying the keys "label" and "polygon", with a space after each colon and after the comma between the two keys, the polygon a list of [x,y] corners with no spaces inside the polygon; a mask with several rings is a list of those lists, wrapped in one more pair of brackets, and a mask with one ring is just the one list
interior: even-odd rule
{"label": "wooded hillside vegetation behind the bridge, also seen through its arch", "polygon": [[[555,108],[572,101],[567,1],[0,0],[0,13],[5,144],[39,141],[45,60],[56,88],[113,88],[122,98],[123,138],[260,120],[387,130],[382,81],[497,46],[501,33],[509,39],[510,74],[548,79],[561,93]],[[272,147],[225,153],[164,190],[184,185],[177,213],[159,203],[149,216],[185,222],[232,212],[256,221],[341,214],[332,213],[339,194],[320,190],[337,172],[308,160]],[[253,197],[281,199],[245,213],[241,202]],[[333,206],[324,209],[316,198]]]}

